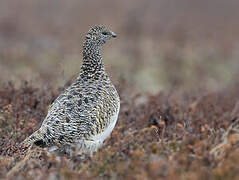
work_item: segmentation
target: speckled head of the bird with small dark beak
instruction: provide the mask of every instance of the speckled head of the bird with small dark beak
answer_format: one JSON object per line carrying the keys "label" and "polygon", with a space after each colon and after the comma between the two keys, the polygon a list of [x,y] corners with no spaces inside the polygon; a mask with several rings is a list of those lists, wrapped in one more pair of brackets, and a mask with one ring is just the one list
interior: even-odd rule
{"label": "speckled head of the bird with small dark beak", "polygon": [[116,34],[104,26],[94,26],[92,27],[86,37],[85,41],[101,47],[106,41],[115,38]]}

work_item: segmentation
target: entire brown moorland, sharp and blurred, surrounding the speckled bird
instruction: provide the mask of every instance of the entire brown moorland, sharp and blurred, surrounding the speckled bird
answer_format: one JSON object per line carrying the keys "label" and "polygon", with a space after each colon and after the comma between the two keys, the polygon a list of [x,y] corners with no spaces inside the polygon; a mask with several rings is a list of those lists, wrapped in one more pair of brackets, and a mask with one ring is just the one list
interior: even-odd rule
{"label": "entire brown moorland, sharp and blurred, surrounding the speckled bird", "polygon": [[[238,179],[238,134],[220,144],[239,117],[238,5],[3,0],[0,179]],[[91,158],[20,147],[79,72],[95,24],[118,35],[103,51],[121,97],[111,137]]]}

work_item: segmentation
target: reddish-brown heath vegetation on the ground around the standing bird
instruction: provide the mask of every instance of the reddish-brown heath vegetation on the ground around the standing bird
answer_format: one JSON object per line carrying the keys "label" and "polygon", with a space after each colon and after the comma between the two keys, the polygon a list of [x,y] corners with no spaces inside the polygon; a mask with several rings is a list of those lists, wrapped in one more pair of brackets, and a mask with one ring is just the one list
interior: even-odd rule
{"label": "reddish-brown heath vegetation on the ground around the standing bird", "polygon": [[207,92],[175,90],[128,96],[124,82],[119,120],[92,157],[69,157],[39,147],[22,149],[62,91],[27,82],[0,88],[0,178],[14,179],[238,179],[239,148],[210,151],[237,118],[239,86]]}

